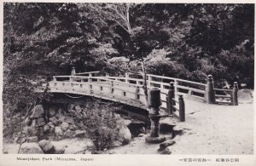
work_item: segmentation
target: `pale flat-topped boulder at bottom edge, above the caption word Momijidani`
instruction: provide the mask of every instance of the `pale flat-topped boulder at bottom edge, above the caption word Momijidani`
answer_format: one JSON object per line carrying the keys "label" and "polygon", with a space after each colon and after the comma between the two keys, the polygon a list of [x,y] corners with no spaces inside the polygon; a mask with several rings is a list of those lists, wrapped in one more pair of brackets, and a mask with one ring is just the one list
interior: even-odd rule
{"label": "pale flat-topped boulder at bottom edge, above the caption word Momijidani", "polygon": [[24,143],[20,146],[21,154],[43,154],[43,150],[38,143]]}

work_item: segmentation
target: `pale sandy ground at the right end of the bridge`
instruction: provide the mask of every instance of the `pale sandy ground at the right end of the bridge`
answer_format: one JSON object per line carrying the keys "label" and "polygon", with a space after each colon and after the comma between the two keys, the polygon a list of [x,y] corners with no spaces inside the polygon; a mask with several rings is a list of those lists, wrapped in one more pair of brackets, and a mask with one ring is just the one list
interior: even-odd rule
{"label": "pale sandy ground at the right end of the bridge", "polygon": [[[176,138],[172,154],[253,154],[253,100],[239,106],[208,105],[186,100],[184,135]],[[144,137],[108,152],[155,154],[159,145],[148,145]]]}

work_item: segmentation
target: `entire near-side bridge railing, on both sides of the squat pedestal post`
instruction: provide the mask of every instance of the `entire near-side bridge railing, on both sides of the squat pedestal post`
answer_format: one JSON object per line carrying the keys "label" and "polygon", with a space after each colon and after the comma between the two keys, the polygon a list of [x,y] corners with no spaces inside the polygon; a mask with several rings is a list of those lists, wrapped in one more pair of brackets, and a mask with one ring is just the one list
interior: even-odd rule
{"label": "entire near-side bridge railing, on both sides of the squat pedestal post", "polygon": [[[128,83],[120,79],[122,78],[54,76],[53,81],[49,82],[49,88],[52,92],[56,93],[85,94],[102,99],[116,100],[131,106],[147,108],[143,86],[139,82]],[[129,80],[134,81],[133,78]],[[135,79],[135,81],[137,81],[137,79]],[[172,98],[172,101],[168,100],[170,98],[170,89],[167,90],[167,93],[160,92],[161,109],[166,111],[167,114],[178,117],[181,121],[184,121],[184,104],[181,104],[183,101],[178,100],[177,105],[172,106],[170,102],[173,102],[175,99]],[[174,95],[172,96],[174,97]],[[177,114],[175,111],[180,113]]]}

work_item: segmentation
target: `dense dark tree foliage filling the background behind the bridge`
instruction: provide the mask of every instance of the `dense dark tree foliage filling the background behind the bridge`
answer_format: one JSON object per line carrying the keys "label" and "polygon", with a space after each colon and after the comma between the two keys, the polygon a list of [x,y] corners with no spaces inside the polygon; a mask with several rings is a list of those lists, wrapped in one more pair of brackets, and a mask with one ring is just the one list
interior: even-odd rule
{"label": "dense dark tree foliage filling the background behind the bridge", "polygon": [[4,3],[3,13],[10,114],[25,112],[42,98],[39,82],[72,66],[119,75],[143,62],[148,73],[203,83],[212,74],[253,88],[253,4]]}

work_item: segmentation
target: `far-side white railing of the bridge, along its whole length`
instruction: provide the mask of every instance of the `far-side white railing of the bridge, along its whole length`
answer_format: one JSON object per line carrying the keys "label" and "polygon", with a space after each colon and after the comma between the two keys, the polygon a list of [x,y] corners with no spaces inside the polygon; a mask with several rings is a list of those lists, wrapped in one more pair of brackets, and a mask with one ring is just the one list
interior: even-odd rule
{"label": "far-side white railing of the bridge, along its whole length", "polygon": [[[74,72],[75,73],[75,72]],[[95,82],[99,79],[95,74],[99,72],[83,72],[77,73],[76,76],[87,74],[90,77],[91,82]],[[109,80],[119,81],[120,83],[129,83],[137,86],[143,85],[142,78],[131,77],[133,73],[126,72],[125,77],[109,77],[104,76],[102,78],[108,78]],[[140,74],[136,74],[142,77]],[[78,77],[76,79],[79,79]],[[167,92],[170,88],[170,82],[174,83],[174,88],[177,94],[186,94],[192,98],[206,101],[209,104],[229,104],[229,105],[238,105],[237,101],[237,90],[238,89],[214,89],[212,76],[209,75],[207,83],[196,83],[193,81],[183,80],[175,77],[164,77],[157,76],[152,74],[147,74],[147,83],[148,88],[158,87],[161,92]],[[224,92],[220,94],[219,92]],[[161,94],[163,101],[165,100],[164,96]],[[222,100],[225,99],[225,100]],[[165,105],[165,104],[164,104]]]}

